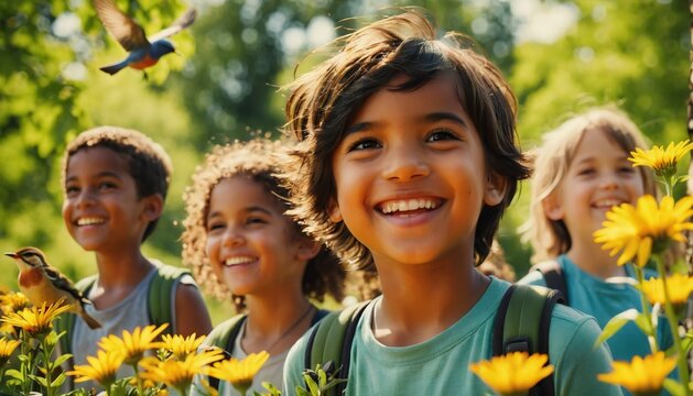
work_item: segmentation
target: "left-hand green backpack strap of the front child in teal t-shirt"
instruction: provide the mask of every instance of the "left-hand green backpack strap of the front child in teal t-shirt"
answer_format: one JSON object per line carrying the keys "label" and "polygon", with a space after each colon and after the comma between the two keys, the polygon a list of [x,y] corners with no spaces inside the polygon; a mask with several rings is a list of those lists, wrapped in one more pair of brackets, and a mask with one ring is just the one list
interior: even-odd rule
{"label": "left-hand green backpack strap of the front child in teal t-shirt", "polygon": [[[322,365],[327,375],[337,374],[337,378],[349,376],[349,360],[356,328],[361,315],[370,301],[351,305],[339,312],[331,312],[315,326],[305,349],[305,369],[314,370]],[[340,383],[328,392],[342,395],[346,383]]]}

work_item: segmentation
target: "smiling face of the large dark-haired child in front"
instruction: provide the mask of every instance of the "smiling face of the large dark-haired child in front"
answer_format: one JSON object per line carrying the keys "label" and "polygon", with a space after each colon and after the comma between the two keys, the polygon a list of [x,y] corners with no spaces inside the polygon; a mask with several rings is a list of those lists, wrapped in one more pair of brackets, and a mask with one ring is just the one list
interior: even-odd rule
{"label": "smiling face of the large dark-haired child in front", "polygon": [[415,90],[381,88],[333,153],[331,218],[344,221],[377,264],[473,263],[481,207],[502,199],[503,180],[489,176],[455,85],[441,74]]}

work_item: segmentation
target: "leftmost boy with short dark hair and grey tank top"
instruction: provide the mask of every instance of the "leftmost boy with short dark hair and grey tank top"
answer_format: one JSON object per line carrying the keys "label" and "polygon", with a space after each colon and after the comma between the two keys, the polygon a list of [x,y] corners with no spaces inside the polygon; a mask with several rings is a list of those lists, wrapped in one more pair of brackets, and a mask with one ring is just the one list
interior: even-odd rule
{"label": "leftmost boy with short dark hair and grey tank top", "polygon": [[[160,310],[170,318],[171,333],[206,334],[212,329],[192,276],[141,252],[163,211],[171,172],[163,147],[134,130],[95,128],[65,150],[63,219],[73,239],[96,255],[98,274],[82,284],[94,302],[86,309],[101,323],[91,330],[77,319],[68,328],[73,364],[86,364],[87,355],[96,355],[97,341],[105,336],[162,324],[152,302],[163,301]],[[166,276],[173,279],[171,287],[152,295],[150,287]]]}

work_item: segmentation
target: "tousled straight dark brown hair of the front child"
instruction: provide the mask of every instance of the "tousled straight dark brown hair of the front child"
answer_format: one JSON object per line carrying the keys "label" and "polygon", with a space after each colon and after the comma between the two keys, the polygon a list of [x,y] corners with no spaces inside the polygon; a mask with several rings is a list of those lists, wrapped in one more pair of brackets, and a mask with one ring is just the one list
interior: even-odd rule
{"label": "tousled straight dark brown hair of the front child", "polygon": [[432,23],[422,13],[407,10],[337,38],[334,44],[340,50],[334,56],[286,87],[291,91],[286,133],[301,141],[293,153],[300,174],[293,177],[294,213],[353,268],[372,270],[372,257],[344,222],[329,219],[336,199],[332,155],[364,102],[394,77],[408,79],[388,89],[412,91],[435,76],[450,74],[459,102],[479,133],[488,176],[506,179],[502,201],[485,206],[477,220],[476,264],[488,255],[518,180],[530,175],[517,146],[515,95],[498,68],[464,47],[464,42],[470,40],[458,33],[436,40]]}

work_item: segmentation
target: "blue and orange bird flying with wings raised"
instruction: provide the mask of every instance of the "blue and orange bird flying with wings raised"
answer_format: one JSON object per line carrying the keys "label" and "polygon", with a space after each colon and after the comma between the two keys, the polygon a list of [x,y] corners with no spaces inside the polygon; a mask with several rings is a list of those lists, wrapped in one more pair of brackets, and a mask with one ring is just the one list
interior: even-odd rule
{"label": "blue and orange bird flying with wings raised", "polygon": [[101,70],[109,75],[115,75],[127,66],[144,70],[155,65],[162,56],[175,52],[173,43],[166,40],[166,37],[193,24],[195,16],[197,16],[197,11],[190,8],[171,26],[147,37],[144,29],[132,18],[120,11],[112,0],[94,0],[94,6],[108,33],[128,52],[128,57],[123,61],[100,67]]}

